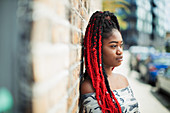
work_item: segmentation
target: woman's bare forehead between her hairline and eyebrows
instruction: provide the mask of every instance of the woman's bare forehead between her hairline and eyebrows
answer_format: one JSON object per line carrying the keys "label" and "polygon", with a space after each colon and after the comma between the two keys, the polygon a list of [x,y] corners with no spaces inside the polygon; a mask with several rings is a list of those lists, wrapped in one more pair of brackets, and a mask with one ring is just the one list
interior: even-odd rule
{"label": "woman's bare forehead between her hairline and eyebrows", "polygon": [[118,30],[113,30],[112,31],[112,35],[106,39],[103,39],[103,43],[108,43],[110,41],[123,41],[122,39],[122,35],[120,34],[120,32]]}

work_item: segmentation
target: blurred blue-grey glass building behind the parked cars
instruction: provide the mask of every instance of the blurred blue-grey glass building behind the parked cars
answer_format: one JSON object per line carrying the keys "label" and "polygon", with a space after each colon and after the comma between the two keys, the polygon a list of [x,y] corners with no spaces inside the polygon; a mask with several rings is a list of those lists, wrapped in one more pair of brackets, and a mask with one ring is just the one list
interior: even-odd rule
{"label": "blurred blue-grey glass building behind the parked cars", "polygon": [[[126,14],[128,28],[122,31],[125,44],[154,46],[163,49],[165,38],[165,0],[125,0],[130,14]],[[120,12],[124,12],[123,10]],[[162,42],[162,43],[160,43]]]}

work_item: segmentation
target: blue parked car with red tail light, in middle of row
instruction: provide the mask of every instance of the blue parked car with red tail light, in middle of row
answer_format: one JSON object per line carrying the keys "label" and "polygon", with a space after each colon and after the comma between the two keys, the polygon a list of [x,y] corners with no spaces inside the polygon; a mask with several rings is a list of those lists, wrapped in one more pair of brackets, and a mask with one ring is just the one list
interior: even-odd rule
{"label": "blue parked car with red tail light, in middle of row", "polygon": [[170,53],[150,54],[144,62],[139,64],[141,78],[147,83],[153,83],[154,85],[158,71],[160,69],[166,69],[168,66],[170,66]]}

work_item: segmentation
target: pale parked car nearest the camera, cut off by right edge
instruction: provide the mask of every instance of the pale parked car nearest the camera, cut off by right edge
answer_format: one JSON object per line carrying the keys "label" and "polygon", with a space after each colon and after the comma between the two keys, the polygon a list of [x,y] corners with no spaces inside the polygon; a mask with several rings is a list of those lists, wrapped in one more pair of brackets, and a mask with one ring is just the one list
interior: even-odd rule
{"label": "pale parked car nearest the camera, cut off by right edge", "polygon": [[165,91],[170,95],[170,67],[165,71],[160,70],[157,76],[156,87],[158,91]]}

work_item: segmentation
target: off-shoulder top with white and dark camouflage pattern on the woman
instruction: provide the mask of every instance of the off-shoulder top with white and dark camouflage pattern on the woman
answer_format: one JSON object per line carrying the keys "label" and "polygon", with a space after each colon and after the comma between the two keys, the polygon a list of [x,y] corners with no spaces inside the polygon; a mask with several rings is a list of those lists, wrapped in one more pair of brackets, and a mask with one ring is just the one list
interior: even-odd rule
{"label": "off-shoulder top with white and dark camouflage pattern on the woman", "polygon": [[[140,113],[138,108],[138,102],[133,95],[133,91],[130,86],[123,89],[113,90],[115,97],[117,98],[122,113]],[[95,98],[95,93],[87,93],[81,95],[81,102],[83,107],[83,113],[102,113],[97,100]]]}

